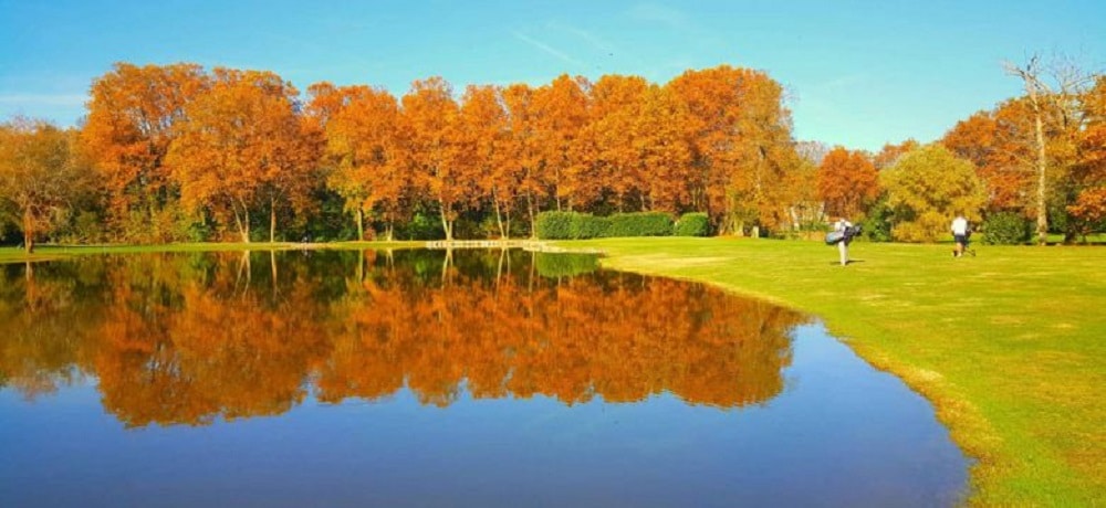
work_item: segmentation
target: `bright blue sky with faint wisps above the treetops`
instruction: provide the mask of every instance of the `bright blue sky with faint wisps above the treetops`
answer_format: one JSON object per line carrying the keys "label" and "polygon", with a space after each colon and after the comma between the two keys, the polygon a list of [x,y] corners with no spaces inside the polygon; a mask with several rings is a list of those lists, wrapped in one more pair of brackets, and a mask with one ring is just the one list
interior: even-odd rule
{"label": "bright blue sky with faint wisps above the treetops", "polygon": [[1106,67],[1106,0],[0,0],[0,119],[75,125],[115,62],[273,71],[301,91],[411,81],[664,84],[720,64],[789,93],[797,139],[878,150],[1020,95],[1002,61]]}

